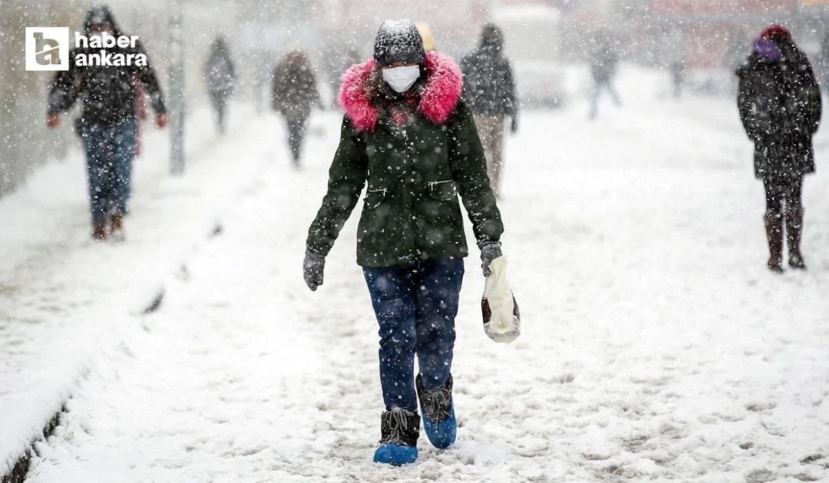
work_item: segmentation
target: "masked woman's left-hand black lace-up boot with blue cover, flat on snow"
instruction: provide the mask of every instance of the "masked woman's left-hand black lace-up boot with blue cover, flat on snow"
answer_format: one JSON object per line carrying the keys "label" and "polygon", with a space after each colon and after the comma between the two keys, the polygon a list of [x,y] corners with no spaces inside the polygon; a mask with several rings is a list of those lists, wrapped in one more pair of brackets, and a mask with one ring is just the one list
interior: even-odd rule
{"label": "masked woman's left-hand black lace-up boot with blue cover, flat on snow", "polygon": [[401,466],[417,460],[417,438],[420,436],[418,413],[401,408],[384,411],[380,418],[380,432],[380,447],[374,452],[374,462]]}

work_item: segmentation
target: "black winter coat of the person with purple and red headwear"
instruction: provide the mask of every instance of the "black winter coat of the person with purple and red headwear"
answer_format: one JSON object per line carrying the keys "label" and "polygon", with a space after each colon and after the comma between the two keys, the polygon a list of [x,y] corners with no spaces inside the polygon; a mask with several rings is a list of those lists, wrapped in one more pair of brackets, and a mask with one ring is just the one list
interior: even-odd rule
{"label": "black winter coat of the person with purple and red headwear", "polygon": [[754,174],[802,177],[815,171],[812,136],[822,114],[820,89],[812,66],[791,41],[783,58],[749,56],[737,70],[737,106],[745,132],[754,141]]}

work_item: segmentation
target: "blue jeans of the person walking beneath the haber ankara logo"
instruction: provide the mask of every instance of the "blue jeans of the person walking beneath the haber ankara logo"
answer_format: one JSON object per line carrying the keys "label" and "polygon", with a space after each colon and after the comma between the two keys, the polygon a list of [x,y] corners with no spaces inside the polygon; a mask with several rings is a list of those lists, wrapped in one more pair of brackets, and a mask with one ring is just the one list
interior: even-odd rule
{"label": "blue jeans of the person walking beneath the haber ankara logo", "polygon": [[95,224],[104,224],[109,213],[127,213],[137,127],[134,117],[114,126],[80,124],[80,138],[86,150],[90,213]]}

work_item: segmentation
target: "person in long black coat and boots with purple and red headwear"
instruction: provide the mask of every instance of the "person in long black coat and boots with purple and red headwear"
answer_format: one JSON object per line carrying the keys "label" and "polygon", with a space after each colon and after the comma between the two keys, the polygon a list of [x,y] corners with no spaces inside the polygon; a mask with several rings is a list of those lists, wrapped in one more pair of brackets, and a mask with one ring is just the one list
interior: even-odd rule
{"label": "person in long black coat and boots with purple and red headwear", "polygon": [[778,25],[754,41],[737,75],[739,116],[754,141],[754,174],[766,192],[768,268],[783,272],[784,221],[788,263],[806,268],[800,251],[802,186],[804,176],[815,171],[812,136],[821,120],[820,88],[806,55]]}

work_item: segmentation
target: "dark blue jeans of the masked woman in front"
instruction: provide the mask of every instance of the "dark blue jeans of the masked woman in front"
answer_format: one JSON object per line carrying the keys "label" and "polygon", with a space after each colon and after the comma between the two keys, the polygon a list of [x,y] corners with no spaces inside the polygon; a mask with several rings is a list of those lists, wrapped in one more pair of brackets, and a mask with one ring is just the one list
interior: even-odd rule
{"label": "dark blue jeans of the masked woman in front", "polygon": [[463,258],[363,268],[380,324],[380,382],[386,410],[417,410],[414,355],[426,389],[452,369]]}

